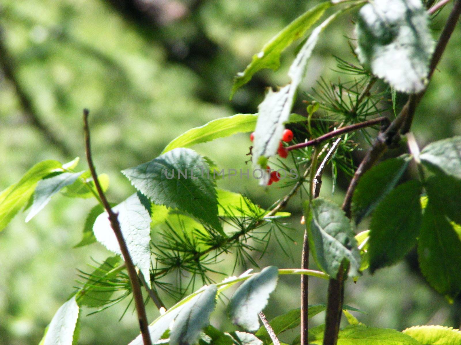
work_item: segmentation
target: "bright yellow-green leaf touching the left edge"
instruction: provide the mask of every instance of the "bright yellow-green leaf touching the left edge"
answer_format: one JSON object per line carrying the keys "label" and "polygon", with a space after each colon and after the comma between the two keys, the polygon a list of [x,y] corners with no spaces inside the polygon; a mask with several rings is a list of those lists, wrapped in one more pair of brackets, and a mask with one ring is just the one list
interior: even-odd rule
{"label": "bright yellow-green leaf touching the left edge", "polygon": [[37,163],[24,174],[17,184],[13,184],[2,192],[0,195],[0,231],[5,229],[10,220],[27,203],[38,181],[61,167],[58,161]]}

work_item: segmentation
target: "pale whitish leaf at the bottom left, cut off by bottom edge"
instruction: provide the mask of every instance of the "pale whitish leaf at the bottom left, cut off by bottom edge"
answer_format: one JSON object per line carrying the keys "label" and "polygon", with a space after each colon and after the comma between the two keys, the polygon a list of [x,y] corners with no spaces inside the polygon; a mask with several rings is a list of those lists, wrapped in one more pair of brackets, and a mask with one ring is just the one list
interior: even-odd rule
{"label": "pale whitish leaf at the bottom left, cut off by bottom edge", "polygon": [[80,308],[75,296],[65,302],[54,314],[53,319],[45,331],[40,344],[43,345],[72,345],[76,337],[76,326]]}

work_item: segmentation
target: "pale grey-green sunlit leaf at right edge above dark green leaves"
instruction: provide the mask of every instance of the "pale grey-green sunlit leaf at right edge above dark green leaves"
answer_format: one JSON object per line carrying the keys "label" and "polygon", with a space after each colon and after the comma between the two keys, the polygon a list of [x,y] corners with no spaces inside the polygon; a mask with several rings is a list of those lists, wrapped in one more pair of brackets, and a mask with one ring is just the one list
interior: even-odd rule
{"label": "pale grey-green sunlit leaf at right edge above dark green leaves", "polygon": [[444,173],[461,179],[461,136],[427,145],[421,151],[420,159],[429,168],[435,166]]}

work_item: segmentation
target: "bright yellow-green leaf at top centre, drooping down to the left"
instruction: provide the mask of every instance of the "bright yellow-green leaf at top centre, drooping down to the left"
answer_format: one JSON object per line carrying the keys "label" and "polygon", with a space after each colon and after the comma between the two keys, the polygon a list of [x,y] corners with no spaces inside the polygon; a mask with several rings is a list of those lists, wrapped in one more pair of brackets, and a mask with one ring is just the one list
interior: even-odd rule
{"label": "bright yellow-green leaf at top centre, drooping down to the left", "polygon": [[237,89],[246,84],[260,69],[270,68],[277,70],[280,67],[280,54],[295,40],[301,38],[307,29],[317,22],[325,11],[333,5],[333,1],[326,1],[311,8],[266,43],[261,52],[253,56],[253,60],[247,68],[242,73],[237,74],[232,87],[231,98]]}

